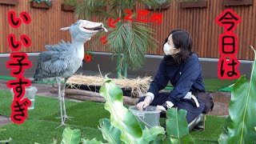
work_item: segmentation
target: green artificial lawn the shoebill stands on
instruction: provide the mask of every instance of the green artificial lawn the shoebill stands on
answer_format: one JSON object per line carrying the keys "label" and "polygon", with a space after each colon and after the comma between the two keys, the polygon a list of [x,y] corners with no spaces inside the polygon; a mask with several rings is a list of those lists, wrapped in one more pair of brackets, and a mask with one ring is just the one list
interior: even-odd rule
{"label": "green artificial lawn the shoebill stands on", "polygon": [[[0,114],[10,116],[10,92],[0,90]],[[102,103],[66,101],[67,114],[72,120],[66,124],[82,131],[82,138],[97,138],[104,141],[101,131],[98,130],[100,118],[109,118],[110,114]],[[21,125],[11,123],[0,126],[0,140],[12,138],[10,143],[50,143],[53,138],[60,143],[64,126],[55,129],[60,124],[58,99],[37,96],[34,110],[28,111],[26,122]],[[217,116],[206,117],[206,130],[192,131],[196,143],[217,143],[218,135],[222,132],[225,118]],[[6,130],[4,130],[6,129]]]}

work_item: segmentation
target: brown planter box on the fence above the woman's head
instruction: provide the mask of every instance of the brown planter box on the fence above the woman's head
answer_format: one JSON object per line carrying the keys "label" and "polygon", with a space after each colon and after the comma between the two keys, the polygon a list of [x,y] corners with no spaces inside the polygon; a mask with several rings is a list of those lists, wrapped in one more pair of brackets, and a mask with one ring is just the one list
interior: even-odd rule
{"label": "brown planter box on the fence above the woman's head", "polygon": [[207,0],[182,0],[182,8],[203,8],[207,7]]}

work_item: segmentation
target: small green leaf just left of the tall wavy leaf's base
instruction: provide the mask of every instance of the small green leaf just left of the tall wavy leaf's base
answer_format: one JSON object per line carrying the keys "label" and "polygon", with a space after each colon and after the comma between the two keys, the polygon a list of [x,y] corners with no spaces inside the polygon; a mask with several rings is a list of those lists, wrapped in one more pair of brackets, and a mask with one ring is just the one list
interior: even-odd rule
{"label": "small green leaf just left of the tall wavy leaf's base", "polygon": [[100,127],[98,127],[99,130],[102,130],[103,138],[109,142],[114,144],[120,144],[120,134],[121,131],[118,128],[115,128],[110,124],[110,120],[107,118],[103,118],[100,120]]}

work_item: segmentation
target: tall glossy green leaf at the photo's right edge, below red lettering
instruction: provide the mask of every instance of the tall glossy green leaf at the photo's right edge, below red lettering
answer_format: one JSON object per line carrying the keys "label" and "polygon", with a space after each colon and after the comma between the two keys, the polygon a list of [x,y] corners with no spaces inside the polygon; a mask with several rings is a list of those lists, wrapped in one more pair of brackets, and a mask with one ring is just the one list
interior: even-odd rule
{"label": "tall glossy green leaf at the photo's right edge, below red lettering", "polygon": [[[254,49],[253,49],[254,50]],[[254,50],[254,55],[255,55]],[[228,143],[256,142],[256,60],[250,76],[250,82],[243,75],[231,91],[229,107],[230,122],[227,125]]]}

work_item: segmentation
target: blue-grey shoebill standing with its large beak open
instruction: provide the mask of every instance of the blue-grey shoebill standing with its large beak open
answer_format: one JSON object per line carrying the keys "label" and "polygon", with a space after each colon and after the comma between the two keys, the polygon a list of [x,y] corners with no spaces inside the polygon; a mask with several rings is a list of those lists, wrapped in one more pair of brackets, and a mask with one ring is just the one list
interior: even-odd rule
{"label": "blue-grey shoebill standing with its large beak open", "polygon": [[[38,67],[34,74],[34,82],[47,79],[56,80],[58,83],[58,100],[61,110],[61,125],[66,125],[64,101],[66,81],[82,67],[84,58],[84,43],[90,40],[100,31],[106,30],[101,22],[90,22],[78,20],[69,27],[61,30],[70,30],[72,42],[61,41],[57,45],[46,45],[48,51],[42,51],[38,55]],[[64,85],[61,88],[61,81],[64,78]]]}

